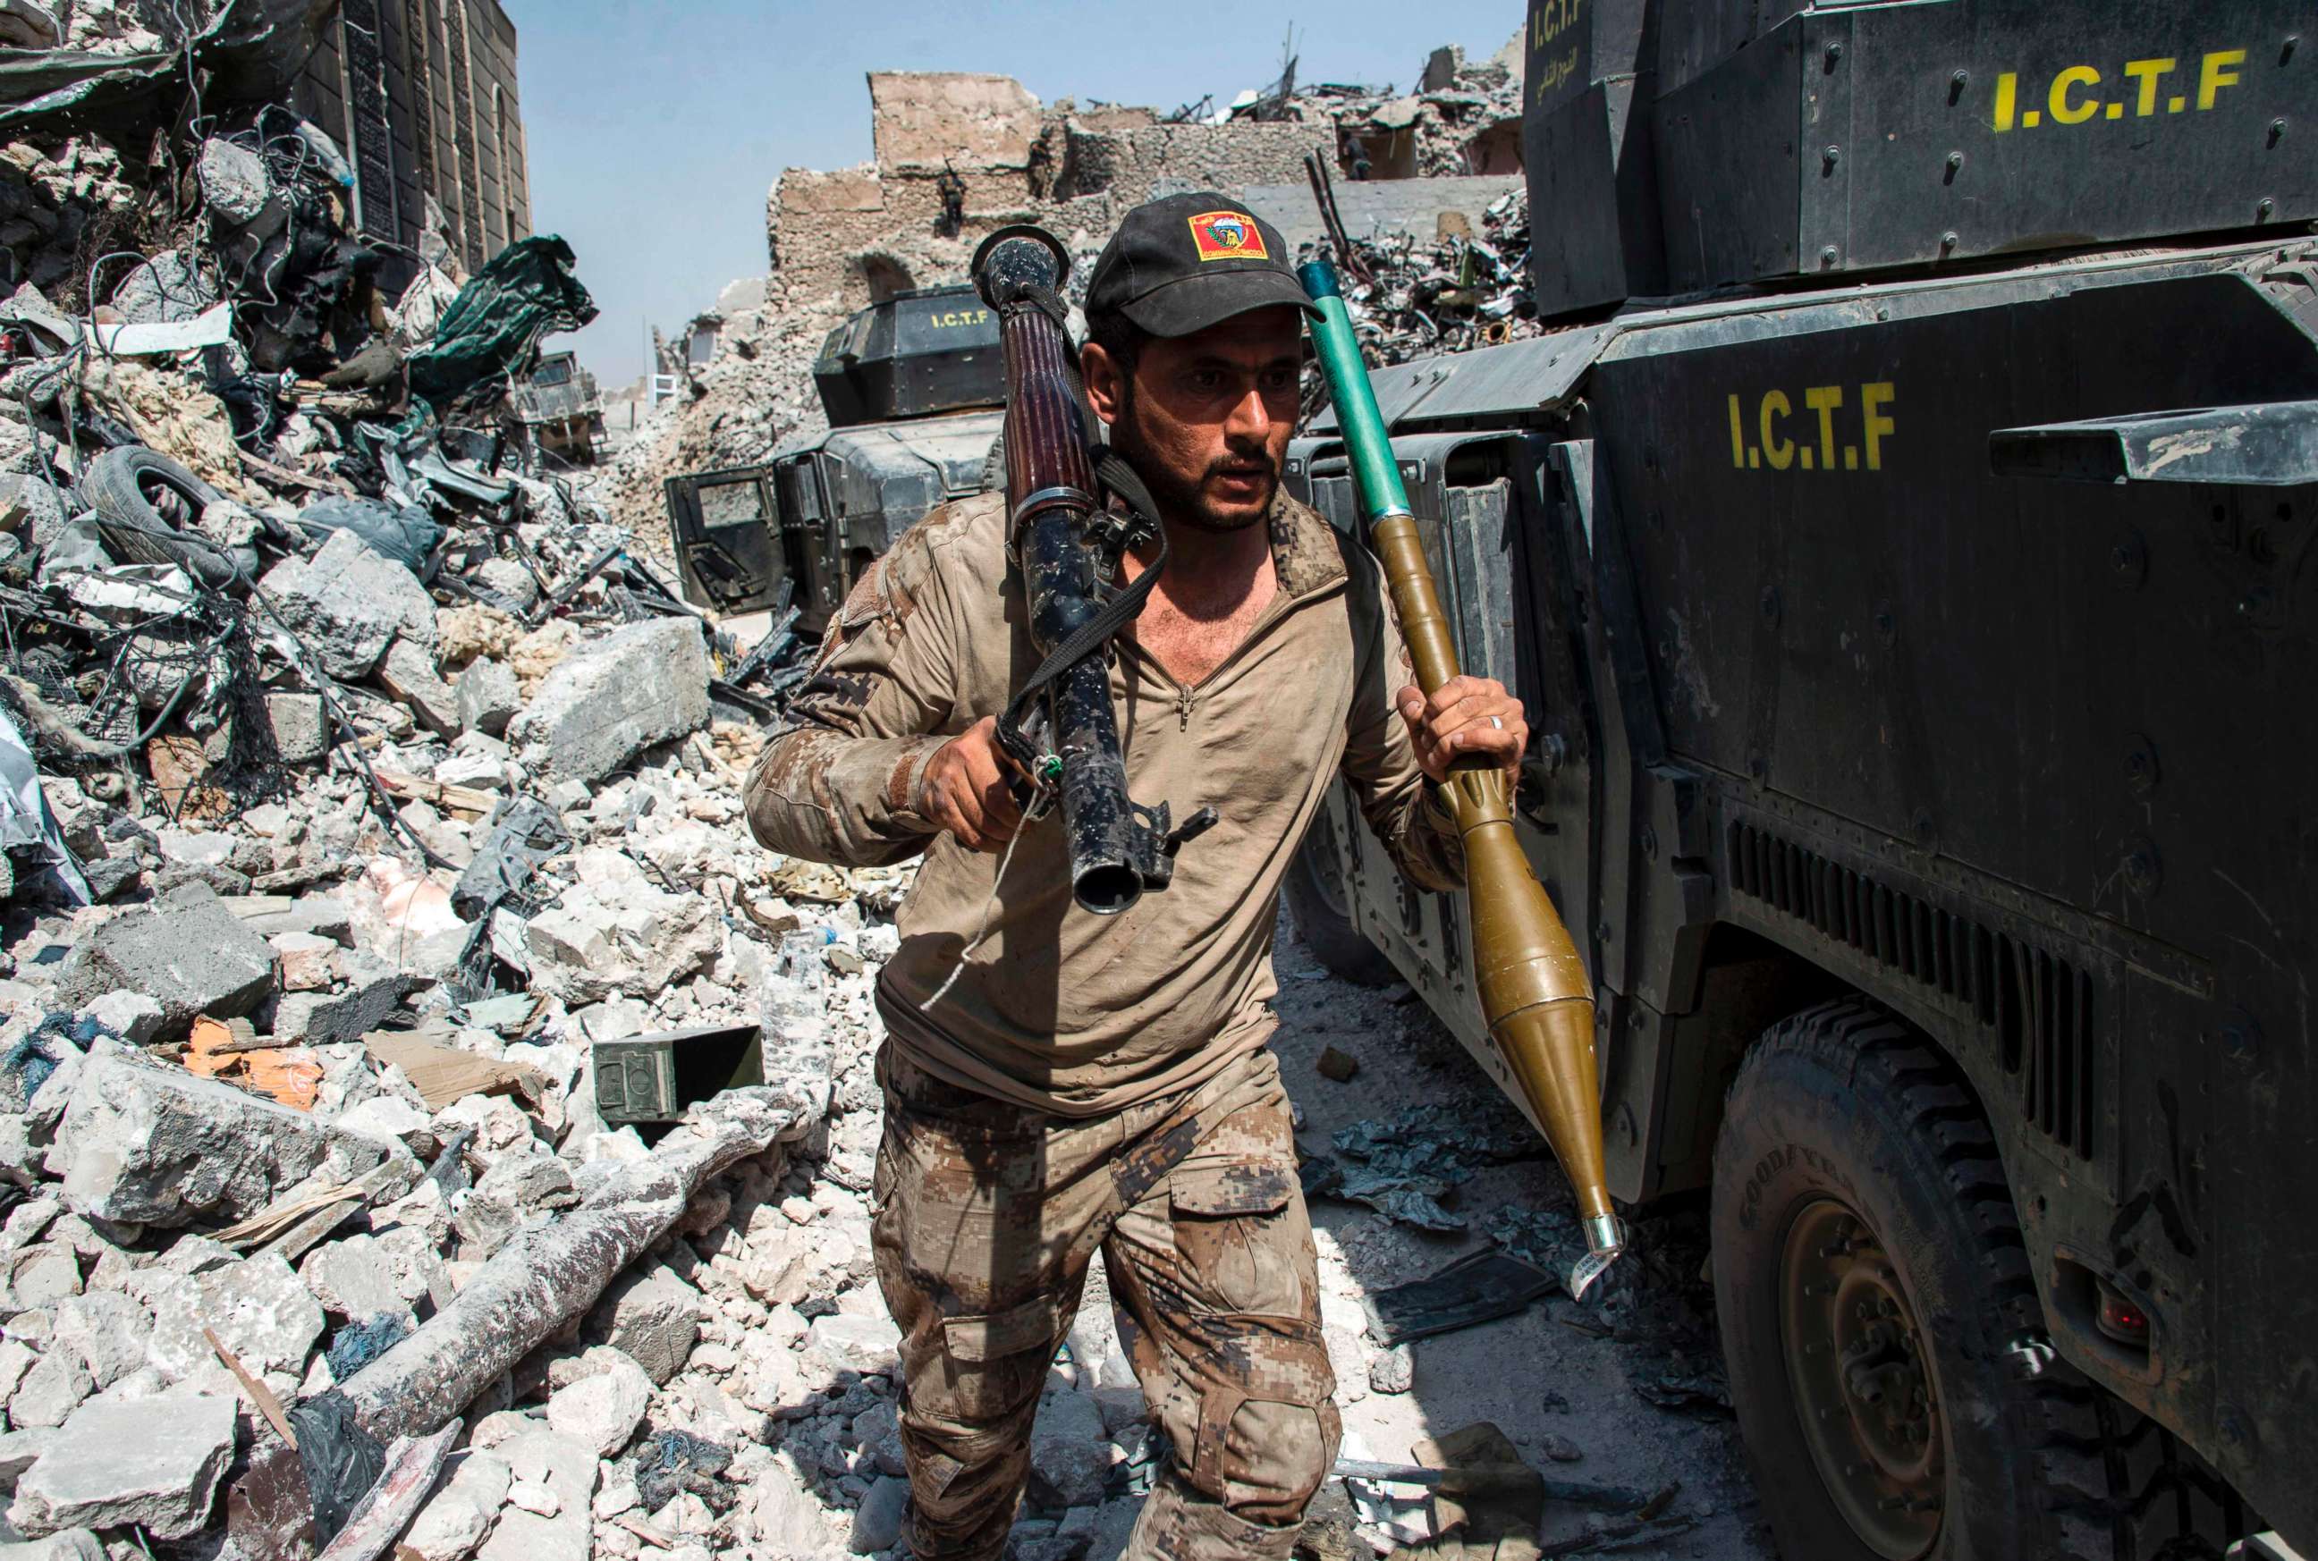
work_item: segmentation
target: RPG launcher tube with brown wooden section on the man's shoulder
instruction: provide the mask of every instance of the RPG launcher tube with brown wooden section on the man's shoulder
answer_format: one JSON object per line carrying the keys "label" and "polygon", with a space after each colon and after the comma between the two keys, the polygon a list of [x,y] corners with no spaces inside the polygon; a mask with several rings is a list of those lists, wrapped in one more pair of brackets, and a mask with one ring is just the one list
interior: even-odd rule
{"label": "RPG launcher tube with brown wooden section on the man's shoulder", "polygon": [[[1110,637],[1134,621],[1166,567],[1150,503],[1110,510],[1103,486],[1134,500],[1143,484],[1117,456],[1096,459],[1064,329],[1069,250],[1041,227],[1001,227],[974,252],[974,290],[999,315],[1006,357],[1008,549],[1045,658],[999,716],[999,746],[1045,797],[1059,797],[1071,896],[1117,915],[1164,889],[1175,850],[1215,822],[1201,808],[1171,829],[1168,806],[1127,794],[1127,755],[1110,709]],[[1127,549],[1159,556],[1124,584]]]}

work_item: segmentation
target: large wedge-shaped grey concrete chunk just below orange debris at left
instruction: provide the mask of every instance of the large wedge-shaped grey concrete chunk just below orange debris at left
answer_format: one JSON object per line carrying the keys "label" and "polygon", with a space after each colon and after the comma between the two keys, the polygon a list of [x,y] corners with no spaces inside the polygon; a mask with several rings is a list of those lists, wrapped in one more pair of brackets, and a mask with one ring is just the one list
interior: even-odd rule
{"label": "large wedge-shaped grey concrete chunk just below orange debris at left", "polygon": [[74,1214],[174,1230],[248,1218],[315,1172],[352,1181],[389,1153],[232,1084],[100,1049],[81,1065],[49,1170]]}

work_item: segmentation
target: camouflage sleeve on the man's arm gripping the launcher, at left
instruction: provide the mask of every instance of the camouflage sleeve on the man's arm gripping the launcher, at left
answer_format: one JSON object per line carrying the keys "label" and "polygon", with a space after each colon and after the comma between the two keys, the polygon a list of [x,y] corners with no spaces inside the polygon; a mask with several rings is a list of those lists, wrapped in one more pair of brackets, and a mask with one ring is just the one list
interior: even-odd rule
{"label": "camouflage sleeve on the man's arm gripping the launcher, at left", "polygon": [[941,570],[918,533],[879,558],[846,598],[821,660],[742,787],[760,845],[839,866],[923,852],[934,827],[913,811],[918,780],[948,734],[955,658]]}

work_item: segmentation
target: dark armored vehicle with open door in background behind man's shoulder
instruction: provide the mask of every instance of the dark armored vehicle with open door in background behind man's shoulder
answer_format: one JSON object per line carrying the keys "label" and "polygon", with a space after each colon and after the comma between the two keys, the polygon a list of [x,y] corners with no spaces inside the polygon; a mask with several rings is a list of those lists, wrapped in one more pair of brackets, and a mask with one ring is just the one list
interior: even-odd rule
{"label": "dark armored vehicle with open door in background behind man's shoulder", "polygon": [[983,489],[1006,375],[974,287],[899,292],[830,331],[814,359],[828,433],[772,461],[668,479],[684,595],[723,614],[783,581],[818,635],[862,567],[927,510]]}

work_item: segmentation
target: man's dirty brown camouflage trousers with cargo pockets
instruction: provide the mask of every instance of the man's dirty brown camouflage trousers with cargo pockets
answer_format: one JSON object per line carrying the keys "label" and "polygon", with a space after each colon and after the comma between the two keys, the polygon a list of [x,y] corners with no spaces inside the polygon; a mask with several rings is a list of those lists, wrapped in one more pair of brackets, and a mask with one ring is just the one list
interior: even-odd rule
{"label": "man's dirty brown camouflage trousers with cargo pockets", "polygon": [[1096,1248],[1173,1454],[1127,1561],[1289,1556],[1340,1424],[1273,1054],[1096,1119],[953,1089],[890,1047],[879,1077],[872,1230],[902,1327],[918,1556],[1004,1552],[1038,1394]]}

